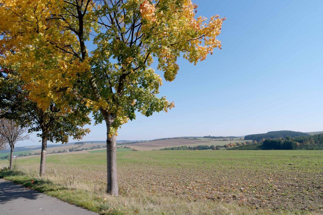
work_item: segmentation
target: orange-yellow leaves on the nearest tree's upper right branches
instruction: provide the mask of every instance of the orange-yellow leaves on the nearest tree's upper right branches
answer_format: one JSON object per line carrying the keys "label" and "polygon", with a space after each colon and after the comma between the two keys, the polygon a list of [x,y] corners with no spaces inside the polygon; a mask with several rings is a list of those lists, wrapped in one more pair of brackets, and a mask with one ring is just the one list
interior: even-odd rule
{"label": "orange-yellow leaves on the nearest tree's upper right branches", "polygon": [[158,57],[158,69],[164,72],[167,81],[172,81],[179,70],[177,58],[183,57],[196,64],[213,54],[214,48],[221,49],[217,36],[221,33],[225,18],[214,15],[195,17],[197,5],[191,0],[159,1],[154,5],[148,0],[140,5],[141,17],[147,21],[141,33],[143,41]]}

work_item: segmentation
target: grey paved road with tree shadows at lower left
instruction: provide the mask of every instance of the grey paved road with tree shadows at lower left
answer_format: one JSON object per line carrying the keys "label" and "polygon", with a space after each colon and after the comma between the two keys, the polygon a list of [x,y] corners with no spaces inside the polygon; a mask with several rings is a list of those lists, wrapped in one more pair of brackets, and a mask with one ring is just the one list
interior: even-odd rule
{"label": "grey paved road with tree shadows at lower left", "polygon": [[22,185],[0,179],[0,215],[98,215]]}

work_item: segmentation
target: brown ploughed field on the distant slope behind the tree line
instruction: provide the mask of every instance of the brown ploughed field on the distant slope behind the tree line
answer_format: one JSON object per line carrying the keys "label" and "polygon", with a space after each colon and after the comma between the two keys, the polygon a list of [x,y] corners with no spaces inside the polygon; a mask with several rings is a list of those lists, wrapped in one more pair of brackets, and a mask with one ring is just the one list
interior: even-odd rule
{"label": "brown ploughed field on the distant slope behind the tree line", "polygon": [[[193,140],[193,139],[164,139],[156,141],[147,141],[141,143],[125,144],[124,146],[136,149],[136,150],[159,150],[161,148],[168,148],[173,146],[198,146],[198,145],[207,145],[207,146],[224,146],[225,144],[235,143],[235,142],[245,142],[248,140],[228,140],[228,141],[216,141],[216,140]],[[249,140],[251,141],[251,140]]]}

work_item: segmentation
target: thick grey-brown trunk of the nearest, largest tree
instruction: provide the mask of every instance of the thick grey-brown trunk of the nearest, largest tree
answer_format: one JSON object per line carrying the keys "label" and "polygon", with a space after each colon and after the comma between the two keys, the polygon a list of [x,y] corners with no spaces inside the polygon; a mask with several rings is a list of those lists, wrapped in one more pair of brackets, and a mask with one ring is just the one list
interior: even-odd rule
{"label": "thick grey-brown trunk of the nearest, largest tree", "polygon": [[117,178],[117,141],[116,135],[109,137],[110,125],[107,124],[107,193],[118,196]]}

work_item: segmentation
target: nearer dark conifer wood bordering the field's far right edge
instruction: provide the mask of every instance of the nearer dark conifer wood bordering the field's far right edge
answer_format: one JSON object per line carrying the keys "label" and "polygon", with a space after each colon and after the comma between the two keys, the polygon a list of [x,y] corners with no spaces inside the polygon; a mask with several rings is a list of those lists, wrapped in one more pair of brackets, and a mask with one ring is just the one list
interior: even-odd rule
{"label": "nearer dark conifer wood bordering the field's far right edge", "polygon": [[260,142],[228,148],[229,150],[323,150],[323,134],[266,139]]}

